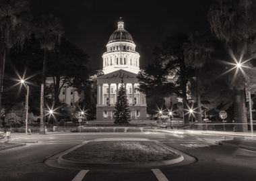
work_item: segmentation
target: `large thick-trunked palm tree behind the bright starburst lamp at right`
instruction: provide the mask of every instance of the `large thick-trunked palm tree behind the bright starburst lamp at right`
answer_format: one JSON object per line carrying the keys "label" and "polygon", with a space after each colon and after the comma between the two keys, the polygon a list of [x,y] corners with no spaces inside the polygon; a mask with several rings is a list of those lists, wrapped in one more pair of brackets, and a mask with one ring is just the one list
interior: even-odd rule
{"label": "large thick-trunked palm tree behind the bright starburst lamp at right", "polygon": [[[216,38],[224,42],[226,48],[230,52],[234,52],[234,56],[245,53],[247,56],[251,40],[255,36],[255,17],[253,10],[251,11],[252,0],[232,1],[218,0],[210,6],[208,13],[208,21],[210,22],[212,33]],[[254,5],[255,6],[255,5]],[[241,48],[243,47],[243,48]],[[254,45],[253,45],[253,49]],[[231,75],[230,75],[231,76]],[[234,121],[236,123],[247,123],[246,107],[245,107],[245,79],[236,78],[235,84],[243,86],[233,86],[234,96]],[[236,126],[237,131],[247,131],[247,125]]]}

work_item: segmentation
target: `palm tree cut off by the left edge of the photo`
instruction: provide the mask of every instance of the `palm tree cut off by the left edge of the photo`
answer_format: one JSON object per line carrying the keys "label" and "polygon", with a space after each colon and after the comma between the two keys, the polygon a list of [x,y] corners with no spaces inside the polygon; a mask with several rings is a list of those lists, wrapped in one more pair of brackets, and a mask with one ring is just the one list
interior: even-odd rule
{"label": "palm tree cut off by the left edge of the photo", "polygon": [[0,49],[3,53],[0,64],[0,109],[3,95],[3,78],[9,49],[13,46],[22,48],[31,33],[32,16],[28,1],[0,0]]}

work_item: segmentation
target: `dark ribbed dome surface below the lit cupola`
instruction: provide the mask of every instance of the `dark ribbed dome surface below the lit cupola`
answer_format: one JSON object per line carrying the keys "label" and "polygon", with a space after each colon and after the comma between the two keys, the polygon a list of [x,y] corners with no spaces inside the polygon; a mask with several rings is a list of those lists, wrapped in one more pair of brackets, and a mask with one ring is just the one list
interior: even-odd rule
{"label": "dark ribbed dome surface below the lit cupola", "polygon": [[[121,34],[122,34],[122,40],[121,40]],[[131,34],[127,32],[125,29],[117,29],[113,34],[111,34],[108,43],[112,42],[133,42],[133,38],[131,37]]]}

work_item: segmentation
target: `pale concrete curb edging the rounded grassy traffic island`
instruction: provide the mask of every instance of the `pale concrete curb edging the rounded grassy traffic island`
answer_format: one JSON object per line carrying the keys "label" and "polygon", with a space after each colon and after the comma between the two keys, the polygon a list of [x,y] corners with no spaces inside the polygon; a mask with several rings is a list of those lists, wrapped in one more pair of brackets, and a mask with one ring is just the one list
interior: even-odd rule
{"label": "pale concrete curb edging the rounded grassy traffic island", "polygon": [[[150,140],[148,140],[150,141]],[[172,165],[172,164],[178,164],[179,162],[182,162],[184,160],[184,157],[179,154],[179,158],[174,158],[172,160],[162,160],[162,161],[155,161],[155,162],[139,162],[139,163],[86,163],[86,162],[75,162],[71,160],[65,160],[63,156],[65,154],[68,154],[69,152],[72,152],[73,150],[77,149],[78,147],[81,147],[82,145],[85,145],[90,141],[84,141],[82,144],[77,145],[75,147],[72,147],[71,149],[66,150],[62,154],[59,155],[57,159],[57,163],[64,165],[64,166],[71,166],[71,167],[86,167],[86,168],[148,168],[148,167],[156,167],[156,166],[166,166],[166,165]],[[172,148],[173,149],[173,148]],[[176,151],[172,150],[172,152],[176,153]]]}

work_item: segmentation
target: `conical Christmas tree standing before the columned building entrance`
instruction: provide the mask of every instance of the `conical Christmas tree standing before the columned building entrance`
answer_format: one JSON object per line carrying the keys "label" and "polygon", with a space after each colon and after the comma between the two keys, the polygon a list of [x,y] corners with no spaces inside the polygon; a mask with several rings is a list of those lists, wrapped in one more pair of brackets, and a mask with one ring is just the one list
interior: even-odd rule
{"label": "conical Christmas tree standing before the columned building entrance", "polygon": [[117,95],[117,103],[115,105],[115,122],[116,124],[122,125],[127,124],[130,121],[129,103],[127,100],[125,86],[123,80]]}

